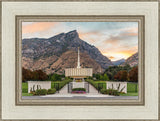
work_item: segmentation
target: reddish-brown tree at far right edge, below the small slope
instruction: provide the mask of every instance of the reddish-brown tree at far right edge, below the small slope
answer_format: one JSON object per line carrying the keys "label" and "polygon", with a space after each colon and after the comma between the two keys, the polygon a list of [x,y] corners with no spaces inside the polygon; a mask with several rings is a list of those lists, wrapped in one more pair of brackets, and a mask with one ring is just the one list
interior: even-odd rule
{"label": "reddish-brown tree at far right edge, below the small slope", "polygon": [[138,82],[138,66],[133,67],[129,72],[129,80],[133,82]]}

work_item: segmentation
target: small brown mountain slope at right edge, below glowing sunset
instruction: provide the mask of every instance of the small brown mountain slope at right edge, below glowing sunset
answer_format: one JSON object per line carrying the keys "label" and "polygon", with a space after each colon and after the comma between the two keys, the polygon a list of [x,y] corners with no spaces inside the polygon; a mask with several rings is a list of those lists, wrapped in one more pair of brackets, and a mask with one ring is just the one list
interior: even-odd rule
{"label": "small brown mountain slope at right edge, below glowing sunset", "polygon": [[138,52],[126,59],[122,66],[129,64],[131,67],[138,65]]}

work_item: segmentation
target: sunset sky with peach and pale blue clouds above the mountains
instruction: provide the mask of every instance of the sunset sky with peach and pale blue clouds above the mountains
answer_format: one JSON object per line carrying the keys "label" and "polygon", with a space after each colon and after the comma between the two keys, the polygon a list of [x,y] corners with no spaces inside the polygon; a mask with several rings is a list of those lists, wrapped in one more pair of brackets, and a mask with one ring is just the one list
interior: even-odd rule
{"label": "sunset sky with peach and pale blue clouds above the mountains", "polygon": [[22,22],[22,39],[50,38],[72,30],[111,61],[138,51],[138,22]]}

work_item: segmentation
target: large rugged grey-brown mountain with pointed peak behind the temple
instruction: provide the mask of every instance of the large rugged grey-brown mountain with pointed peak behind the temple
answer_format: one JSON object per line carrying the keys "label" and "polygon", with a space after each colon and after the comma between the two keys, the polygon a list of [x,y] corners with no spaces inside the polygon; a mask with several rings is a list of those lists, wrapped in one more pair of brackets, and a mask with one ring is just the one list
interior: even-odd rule
{"label": "large rugged grey-brown mountain with pointed peak behind the temple", "polygon": [[78,47],[82,67],[92,67],[94,73],[99,73],[113,65],[95,46],[81,40],[74,30],[47,39],[23,39],[22,66],[30,70],[41,69],[47,74],[62,74],[65,68],[76,67]]}

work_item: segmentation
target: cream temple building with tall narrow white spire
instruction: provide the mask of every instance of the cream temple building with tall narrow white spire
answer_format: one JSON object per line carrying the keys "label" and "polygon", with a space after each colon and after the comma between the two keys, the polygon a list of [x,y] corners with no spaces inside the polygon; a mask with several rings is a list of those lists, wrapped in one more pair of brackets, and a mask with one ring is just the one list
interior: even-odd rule
{"label": "cream temple building with tall narrow white spire", "polygon": [[84,78],[92,77],[92,73],[93,73],[92,68],[81,68],[80,51],[78,48],[77,68],[66,68],[65,69],[65,76],[73,78],[73,81],[77,81],[77,80],[84,81]]}

